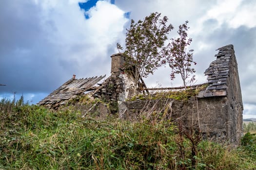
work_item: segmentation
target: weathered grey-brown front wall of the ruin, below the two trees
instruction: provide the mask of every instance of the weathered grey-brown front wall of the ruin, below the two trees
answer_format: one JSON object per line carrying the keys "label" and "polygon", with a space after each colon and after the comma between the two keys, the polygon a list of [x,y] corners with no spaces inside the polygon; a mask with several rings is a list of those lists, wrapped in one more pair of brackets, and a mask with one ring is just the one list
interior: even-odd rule
{"label": "weathered grey-brown front wall of the ruin, below the two trees", "polygon": [[140,114],[148,111],[156,112],[164,114],[166,119],[171,119],[173,122],[183,122],[187,128],[198,126],[204,138],[221,142],[239,142],[236,136],[227,136],[232,129],[228,125],[229,113],[226,97],[191,97],[188,101],[138,100],[126,101],[125,104],[127,111],[123,114],[124,119],[136,120]]}

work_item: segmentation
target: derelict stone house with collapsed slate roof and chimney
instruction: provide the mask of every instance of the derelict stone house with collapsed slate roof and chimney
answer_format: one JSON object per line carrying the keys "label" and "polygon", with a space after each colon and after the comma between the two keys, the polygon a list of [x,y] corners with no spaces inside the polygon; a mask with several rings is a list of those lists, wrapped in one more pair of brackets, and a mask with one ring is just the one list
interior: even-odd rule
{"label": "derelict stone house with collapsed slate roof and chimney", "polygon": [[144,89],[146,86],[142,79],[139,85],[135,85],[132,74],[121,69],[124,60],[118,53],[111,56],[111,76],[99,86],[94,85],[104,78],[102,76],[89,78],[90,81],[73,78],[39,104],[57,107],[93,89],[90,95],[94,98],[117,101],[119,116],[124,119],[135,119],[142,112],[165,107],[165,114],[170,119],[181,120],[185,126],[196,125],[207,138],[237,144],[242,136],[243,104],[235,51],[233,45],[217,50],[217,59],[205,71],[205,88],[198,88],[200,85],[191,87],[201,90],[187,101],[126,100],[138,94],[137,86]]}

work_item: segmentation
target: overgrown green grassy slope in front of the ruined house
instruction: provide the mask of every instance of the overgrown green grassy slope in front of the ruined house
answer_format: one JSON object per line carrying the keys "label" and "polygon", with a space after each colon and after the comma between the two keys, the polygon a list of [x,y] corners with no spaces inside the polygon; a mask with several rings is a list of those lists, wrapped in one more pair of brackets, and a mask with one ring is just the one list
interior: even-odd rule
{"label": "overgrown green grassy slope in front of the ruined house", "polygon": [[0,102],[0,170],[255,170],[256,137],[242,145],[200,141],[192,157],[191,140],[167,120],[97,120]]}

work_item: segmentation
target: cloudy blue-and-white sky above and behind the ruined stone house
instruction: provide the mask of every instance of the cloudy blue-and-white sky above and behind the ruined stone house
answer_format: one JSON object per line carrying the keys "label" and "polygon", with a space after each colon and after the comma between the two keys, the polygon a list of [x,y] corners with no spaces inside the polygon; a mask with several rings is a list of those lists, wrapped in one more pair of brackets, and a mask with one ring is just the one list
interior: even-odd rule
{"label": "cloudy blue-and-white sky above and behind the ruined stone house", "polygon": [[[130,19],[152,12],[178,25],[189,21],[196,83],[217,48],[233,44],[244,118],[256,118],[256,0],[1,0],[0,99],[14,92],[37,103],[72,77],[110,75],[110,56],[124,45]],[[170,68],[145,79],[149,87],[180,86]]]}

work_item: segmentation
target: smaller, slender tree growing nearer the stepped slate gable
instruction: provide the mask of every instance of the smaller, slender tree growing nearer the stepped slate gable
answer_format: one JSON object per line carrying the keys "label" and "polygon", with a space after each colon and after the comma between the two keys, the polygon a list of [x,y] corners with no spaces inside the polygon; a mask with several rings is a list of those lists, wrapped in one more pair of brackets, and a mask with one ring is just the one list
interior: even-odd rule
{"label": "smaller, slender tree growing nearer the stepped slate gable", "polygon": [[172,68],[171,72],[171,80],[175,79],[175,74],[180,74],[184,88],[186,89],[187,83],[192,83],[195,80],[195,76],[187,82],[187,79],[190,78],[191,74],[195,73],[195,69],[192,68],[192,65],[196,65],[197,63],[193,61],[193,51],[188,50],[187,46],[189,46],[192,42],[192,38],[188,38],[187,31],[189,27],[187,26],[188,21],[184,24],[179,25],[179,30],[177,33],[179,37],[177,39],[172,38],[172,42],[169,44],[169,52],[167,55],[167,63],[170,68]]}

